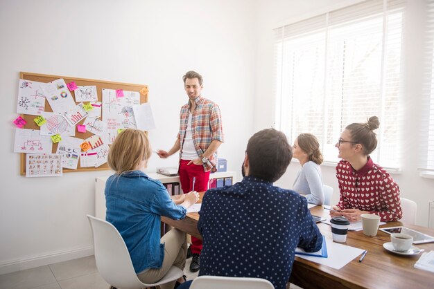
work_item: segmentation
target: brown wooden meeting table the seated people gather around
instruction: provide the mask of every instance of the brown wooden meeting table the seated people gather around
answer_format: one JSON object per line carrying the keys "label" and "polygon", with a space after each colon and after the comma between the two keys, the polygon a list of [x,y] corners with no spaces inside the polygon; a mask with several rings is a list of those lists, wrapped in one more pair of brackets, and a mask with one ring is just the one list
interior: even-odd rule
{"label": "brown wooden meeting table the seated people gather around", "polygon": [[[317,216],[329,214],[321,206],[311,208],[311,213]],[[198,219],[198,213],[187,214],[186,218],[180,221],[162,217],[164,223],[201,238],[197,227]],[[403,224],[389,222],[381,227],[397,225]],[[324,236],[331,239],[329,225],[318,223],[318,227]],[[434,236],[434,230],[428,227],[406,227]],[[422,253],[411,257],[392,254],[383,248],[383,243],[389,241],[390,235],[381,231],[376,236],[365,236],[363,231],[350,231],[345,244],[367,250],[363,262],[358,262],[357,257],[340,270],[336,270],[327,265],[295,257],[290,282],[302,288],[434,288],[434,273],[413,267]],[[434,250],[434,243],[416,246],[426,252]]]}

